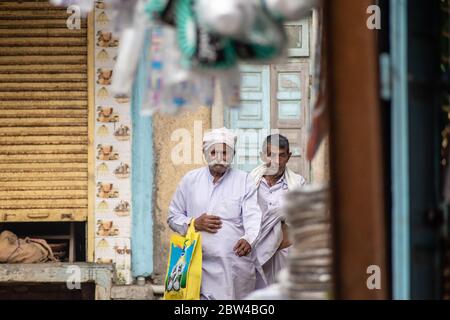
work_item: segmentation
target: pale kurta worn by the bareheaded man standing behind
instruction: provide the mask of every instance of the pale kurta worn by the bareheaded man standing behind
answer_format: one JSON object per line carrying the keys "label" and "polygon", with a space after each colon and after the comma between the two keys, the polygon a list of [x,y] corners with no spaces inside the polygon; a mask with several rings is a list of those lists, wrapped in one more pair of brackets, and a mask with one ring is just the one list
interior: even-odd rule
{"label": "pale kurta worn by the bareheaded man standing behind", "polygon": [[[295,178],[298,180],[298,185],[306,182],[300,175],[295,175]],[[265,279],[258,276],[258,289],[275,283],[276,275],[286,266],[289,248],[283,250],[278,250],[278,248],[283,240],[281,208],[284,196],[288,191],[284,175],[272,187],[269,187],[264,178],[261,179],[258,186],[258,204],[263,212],[263,218],[256,251],[258,262],[262,266],[265,276]]]}

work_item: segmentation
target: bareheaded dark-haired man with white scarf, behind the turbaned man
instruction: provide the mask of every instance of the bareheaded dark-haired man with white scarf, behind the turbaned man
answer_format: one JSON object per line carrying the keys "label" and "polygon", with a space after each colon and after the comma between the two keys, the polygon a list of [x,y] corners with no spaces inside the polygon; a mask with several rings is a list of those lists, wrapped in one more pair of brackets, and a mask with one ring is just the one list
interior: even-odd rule
{"label": "bareheaded dark-haired man with white scarf, behind the turbaned man", "polygon": [[255,250],[264,275],[258,275],[257,289],[273,284],[278,272],[286,265],[291,243],[287,225],[280,214],[283,196],[306,181],[287,168],[291,155],[286,137],[278,134],[268,136],[261,152],[263,164],[251,172],[258,187],[258,204],[263,212],[261,233]]}

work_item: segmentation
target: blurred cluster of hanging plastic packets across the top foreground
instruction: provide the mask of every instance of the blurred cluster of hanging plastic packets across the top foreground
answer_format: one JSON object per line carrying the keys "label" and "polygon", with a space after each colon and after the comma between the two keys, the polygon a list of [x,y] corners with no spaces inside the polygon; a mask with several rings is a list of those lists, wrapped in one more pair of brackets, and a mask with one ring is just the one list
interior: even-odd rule
{"label": "blurred cluster of hanging plastic packets across the top foreground", "polygon": [[[120,34],[111,91],[130,96],[147,59],[144,107],[178,114],[211,107],[220,87],[226,107],[240,107],[239,66],[287,57],[284,23],[311,13],[320,0],[50,0],[83,13],[107,10]],[[163,37],[159,37],[164,34]],[[142,60],[141,60],[142,61]],[[142,79],[141,79],[142,80]],[[140,80],[139,80],[140,81]]]}

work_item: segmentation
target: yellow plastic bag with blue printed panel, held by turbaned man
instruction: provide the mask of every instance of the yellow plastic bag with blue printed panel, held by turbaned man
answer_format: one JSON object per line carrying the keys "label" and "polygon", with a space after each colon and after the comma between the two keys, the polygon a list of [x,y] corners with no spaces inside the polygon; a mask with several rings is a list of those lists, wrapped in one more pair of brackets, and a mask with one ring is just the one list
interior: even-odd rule
{"label": "yellow plastic bag with blue printed panel, held by turbaned man", "polygon": [[172,235],[164,300],[200,300],[202,283],[201,234],[191,222],[186,236]]}

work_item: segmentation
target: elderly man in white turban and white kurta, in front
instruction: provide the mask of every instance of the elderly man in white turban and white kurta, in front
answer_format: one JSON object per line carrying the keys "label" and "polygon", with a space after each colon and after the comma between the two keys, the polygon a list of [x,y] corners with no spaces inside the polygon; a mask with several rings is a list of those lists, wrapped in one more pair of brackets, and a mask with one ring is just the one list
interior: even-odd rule
{"label": "elderly man in white turban and white kurta, in front", "polygon": [[255,184],[230,167],[237,137],[216,129],[203,138],[207,167],[187,173],[169,207],[167,222],[180,234],[194,223],[202,235],[202,299],[243,299],[255,289],[253,244],[261,228]]}

